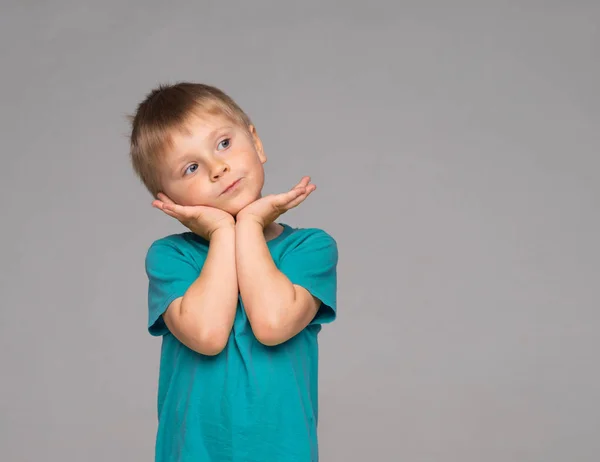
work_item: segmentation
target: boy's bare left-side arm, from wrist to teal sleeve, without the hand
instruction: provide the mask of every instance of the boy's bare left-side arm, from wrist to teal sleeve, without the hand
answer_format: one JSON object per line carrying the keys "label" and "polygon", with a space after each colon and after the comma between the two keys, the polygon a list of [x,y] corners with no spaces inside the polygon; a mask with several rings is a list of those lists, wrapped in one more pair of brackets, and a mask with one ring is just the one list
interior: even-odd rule
{"label": "boy's bare left-side arm, from wrist to teal sleeve, without the hand", "polygon": [[229,339],[237,302],[235,228],[224,227],[211,236],[200,276],[169,305],[163,319],[188,348],[217,355]]}

